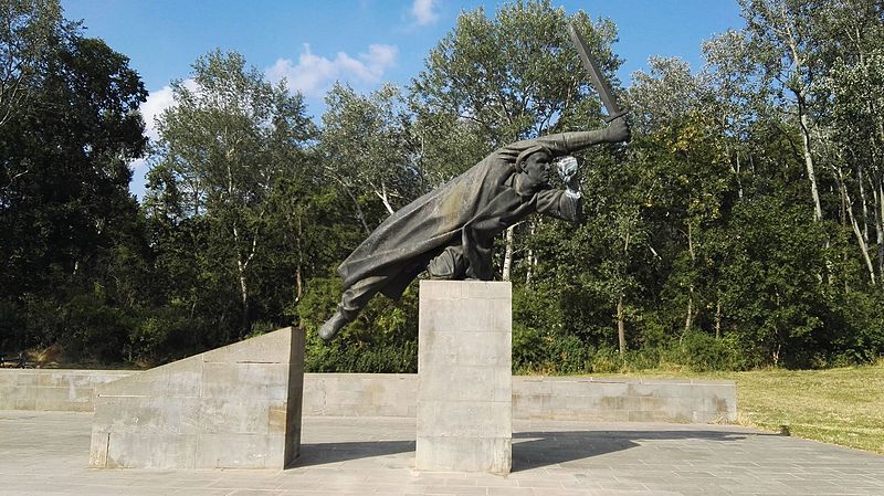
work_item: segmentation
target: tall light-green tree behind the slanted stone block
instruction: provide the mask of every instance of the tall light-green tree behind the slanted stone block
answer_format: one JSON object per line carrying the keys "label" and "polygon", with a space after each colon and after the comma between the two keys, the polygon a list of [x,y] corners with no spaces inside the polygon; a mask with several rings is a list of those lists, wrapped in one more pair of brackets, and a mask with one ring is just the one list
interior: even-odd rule
{"label": "tall light-green tree behind the slanted stone block", "polygon": [[199,57],[192,82],[172,84],[175,106],[158,119],[149,197],[172,203],[167,212],[175,215],[204,219],[209,270],[222,279],[232,273],[243,336],[251,329],[252,267],[270,235],[270,201],[283,178],[302,172],[314,130],[302,96],[284,83],[272,86],[239,53]]}

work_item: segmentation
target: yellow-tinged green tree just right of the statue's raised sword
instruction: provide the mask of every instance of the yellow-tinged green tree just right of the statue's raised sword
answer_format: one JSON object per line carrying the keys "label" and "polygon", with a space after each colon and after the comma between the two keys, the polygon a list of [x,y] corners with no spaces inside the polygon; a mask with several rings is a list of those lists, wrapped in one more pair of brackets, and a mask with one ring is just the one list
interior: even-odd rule
{"label": "yellow-tinged green tree just right of the statue's raised sword", "polygon": [[725,135],[708,112],[709,94],[702,75],[673,59],[652,59],[651,74],[638,73],[629,92],[642,131],[631,158],[645,175],[640,181],[648,188],[645,210],[669,231],[661,238],[672,242],[673,252],[665,256],[674,264],[669,283],[686,308],[682,336],[703,308],[705,231],[720,221],[733,191]]}

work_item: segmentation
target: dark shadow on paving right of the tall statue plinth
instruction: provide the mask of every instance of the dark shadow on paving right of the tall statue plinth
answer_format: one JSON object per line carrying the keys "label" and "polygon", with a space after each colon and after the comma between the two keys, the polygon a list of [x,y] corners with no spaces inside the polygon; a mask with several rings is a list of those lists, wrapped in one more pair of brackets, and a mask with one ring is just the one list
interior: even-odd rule
{"label": "dark shadow on paving right of the tall statue plinth", "polygon": [[727,431],[565,431],[513,433],[513,472],[589,458],[639,446],[643,440],[740,441]]}

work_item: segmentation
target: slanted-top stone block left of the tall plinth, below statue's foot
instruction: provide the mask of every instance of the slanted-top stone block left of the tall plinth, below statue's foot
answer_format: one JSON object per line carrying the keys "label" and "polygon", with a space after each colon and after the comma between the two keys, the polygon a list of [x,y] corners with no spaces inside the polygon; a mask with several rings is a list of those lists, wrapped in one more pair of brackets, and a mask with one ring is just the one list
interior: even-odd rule
{"label": "slanted-top stone block left of the tall plinth, below statue's foot", "polygon": [[99,386],[90,466],[284,468],[303,391],[304,331],[291,327]]}

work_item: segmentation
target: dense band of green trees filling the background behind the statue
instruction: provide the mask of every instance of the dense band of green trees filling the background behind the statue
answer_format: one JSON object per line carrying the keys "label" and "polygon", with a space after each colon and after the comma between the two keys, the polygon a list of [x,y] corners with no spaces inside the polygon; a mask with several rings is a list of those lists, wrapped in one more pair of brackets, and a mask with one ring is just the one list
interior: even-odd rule
{"label": "dense band of green trees filling the background behind the statue", "polygon": [[[336,85],[314,123],[214,51],[172,83],[138,205],[146,92],[128,60],[57,1],[0,3],[0,350],[77,362],[156,365],[297,325],[312,371],[415,371],[417,285],[318,340],[337,264],[495,147],[602,125],[566,22],[609,76],[620,65],[610,20],[515,1],[463,12],[406,94]],[[652,57],[620,92],[633,139],[580,154],[582,223],[532,218],[497,246],[515,371],[884,356],[880,6],[740,4],[745,29],[704,43],[702,71]]]}

